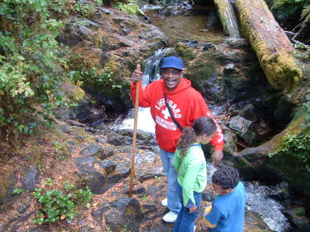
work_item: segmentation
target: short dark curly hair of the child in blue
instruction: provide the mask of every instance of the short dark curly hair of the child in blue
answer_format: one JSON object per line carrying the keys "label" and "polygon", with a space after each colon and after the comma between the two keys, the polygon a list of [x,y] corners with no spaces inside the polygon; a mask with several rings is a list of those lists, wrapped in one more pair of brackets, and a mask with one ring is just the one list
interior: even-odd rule
{"label": "short dark curly hair of the child in blue", "polygon": [[223,189],[234,189],[240,180],[239,172],[234,167],[222,166],[212,176],[212,182]]}

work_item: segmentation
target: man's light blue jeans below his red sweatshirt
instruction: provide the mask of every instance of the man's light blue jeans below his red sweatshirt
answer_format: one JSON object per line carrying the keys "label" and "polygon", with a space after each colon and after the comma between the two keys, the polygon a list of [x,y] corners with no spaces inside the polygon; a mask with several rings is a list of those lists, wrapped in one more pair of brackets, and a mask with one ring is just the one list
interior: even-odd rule
{"label": "man's light blue jeans below his red sweatshirt", "polygon": [[159,150],[161,155],[161,162],[163,162],[163,169],[168,178],[168,189],[167,189],[167,198],[168,198],[168,208],[174,213],[178,213],[182,207],[178,193],[176,193],[176,178],[178,173],[174,169],[174,153],[165,151],[163,149]]}

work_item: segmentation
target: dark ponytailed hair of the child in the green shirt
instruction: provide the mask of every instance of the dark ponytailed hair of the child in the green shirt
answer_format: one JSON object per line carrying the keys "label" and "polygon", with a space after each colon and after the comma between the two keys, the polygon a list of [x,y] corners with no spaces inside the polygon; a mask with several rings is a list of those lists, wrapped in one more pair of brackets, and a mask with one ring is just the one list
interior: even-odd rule
{"label": "dark ponytailed hair of the child in the green shirt", "polygon": [[185,127],[182,131],[182,137],[178,143],[178,148],[181,149],[182,156],[186,156],[187,149],[192,143],[196,142],[197,136],[214,134],[216,124],[212,118],[201,116],[194,121],[193,127]]}

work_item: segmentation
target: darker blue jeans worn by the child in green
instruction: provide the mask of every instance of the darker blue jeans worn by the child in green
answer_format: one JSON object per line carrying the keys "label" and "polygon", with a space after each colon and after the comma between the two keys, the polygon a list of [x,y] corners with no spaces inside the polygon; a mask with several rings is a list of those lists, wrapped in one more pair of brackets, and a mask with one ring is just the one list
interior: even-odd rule
{"label": "darker blue jeans worn by the child in green", "polygon": [[202,194],[196,193],[196,191],[194,191],[194,199],[196,202],[197,210],[195,213],[189,213],[189,208],[183,206],[182,187],[178,183],[176,184],[176,191],[178,192],[178,196],[181,199],[182,208],[180,209],[180,212],[178,212],[178,218],[176,218],[176,222],[174,223],[174,230],[172,232],[193,232],[194,222],[200,209]]}

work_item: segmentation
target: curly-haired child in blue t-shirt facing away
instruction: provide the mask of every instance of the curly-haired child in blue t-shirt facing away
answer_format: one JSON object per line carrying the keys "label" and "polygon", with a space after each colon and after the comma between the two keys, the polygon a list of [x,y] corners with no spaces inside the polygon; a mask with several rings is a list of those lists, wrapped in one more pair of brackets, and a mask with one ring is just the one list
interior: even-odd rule
{"label": "curly-haired child in blue t-shirt facing away", "polygon": [[245,222],[245,186],[233,167],[214,172],[212,186],[219,193],[203,215],[209,232],[242,232]]}

